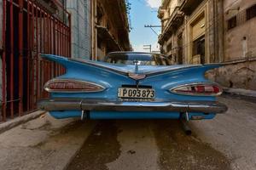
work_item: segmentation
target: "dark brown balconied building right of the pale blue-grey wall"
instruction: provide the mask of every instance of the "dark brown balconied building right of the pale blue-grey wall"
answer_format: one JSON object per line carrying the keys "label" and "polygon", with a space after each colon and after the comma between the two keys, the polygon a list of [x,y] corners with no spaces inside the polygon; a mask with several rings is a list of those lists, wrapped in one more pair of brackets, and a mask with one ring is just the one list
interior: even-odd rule
{"label": "dark brown balconied building right of the pale blue-grey wall", "polygon": [[92,59],[102,60],[112,51],[127,51],[129,23],[125,0],[92,1]]}

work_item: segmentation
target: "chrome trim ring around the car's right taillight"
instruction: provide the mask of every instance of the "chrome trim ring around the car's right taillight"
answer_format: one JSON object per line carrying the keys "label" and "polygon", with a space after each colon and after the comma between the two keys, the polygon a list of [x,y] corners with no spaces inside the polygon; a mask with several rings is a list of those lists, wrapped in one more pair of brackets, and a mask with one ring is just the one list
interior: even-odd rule
{"label": "chrome trim ring around the car's right taillight", "polygon": [[[215,85],[215,86],[218,86],[220,92],[218,94],[185,94],[185,93],[180,93],[175,91],[176,88],[182,88],[185,86],[193,86],[193,85]],[[217,82],[192,82],[192,83],[182,84],[174,88],[170,88],[169,91],[173,94],[182,94],[182,95],[190,95],[190,96],[219,96],[223,93],[223,88]]]}

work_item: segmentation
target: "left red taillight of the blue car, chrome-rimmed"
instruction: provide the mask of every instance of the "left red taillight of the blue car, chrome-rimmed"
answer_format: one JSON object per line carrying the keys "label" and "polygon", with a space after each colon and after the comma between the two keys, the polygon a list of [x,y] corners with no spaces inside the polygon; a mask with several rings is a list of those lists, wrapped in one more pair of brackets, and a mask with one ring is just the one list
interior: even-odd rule
{"label": "left red taillight of the blue car, chrome-rimmed", "polygon": [[73,79],[52,79],[49,82],[46,82],[44,89],[48,92],[89,93],[100,92],[105,88],[94,82]]}

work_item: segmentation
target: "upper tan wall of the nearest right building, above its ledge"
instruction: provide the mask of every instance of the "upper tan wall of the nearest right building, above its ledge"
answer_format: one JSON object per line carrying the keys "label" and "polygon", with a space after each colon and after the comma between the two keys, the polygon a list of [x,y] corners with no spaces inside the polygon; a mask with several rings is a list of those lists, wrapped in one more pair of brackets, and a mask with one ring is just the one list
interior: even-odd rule
{"label": "upper tan wall of the nearest right building, above its ledge", "polygon": [[[255,0],[224,1],[224,61],[256,56],[256,17],[246,20],[246,9],[253,4]],[[227,20],[233,16],[237,26],[228,30]]]}

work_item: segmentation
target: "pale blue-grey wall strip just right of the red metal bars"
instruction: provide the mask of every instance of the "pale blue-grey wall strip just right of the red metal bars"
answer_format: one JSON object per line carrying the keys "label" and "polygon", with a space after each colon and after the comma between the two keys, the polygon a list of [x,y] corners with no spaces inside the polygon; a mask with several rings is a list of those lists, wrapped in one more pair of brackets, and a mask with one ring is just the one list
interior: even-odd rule
{"label": "pale blue-grey wall strip just right of the red metal bars", "polygon": [[72,57],[90,59],[90,0],[67,0],[72,14]]}

